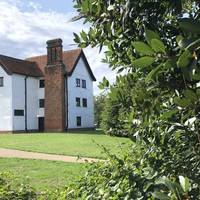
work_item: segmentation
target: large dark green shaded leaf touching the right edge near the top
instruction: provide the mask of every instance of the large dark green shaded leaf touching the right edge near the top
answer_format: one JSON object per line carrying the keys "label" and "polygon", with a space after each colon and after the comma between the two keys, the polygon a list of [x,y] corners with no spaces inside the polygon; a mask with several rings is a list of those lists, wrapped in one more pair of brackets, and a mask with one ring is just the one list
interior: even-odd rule
{"label": "large dark green shaded leaf touching the right edge near the top", "polygon": [[190,18],[182,18],[178,21],[180,28],[189,33],[200,33],[200,21]]}

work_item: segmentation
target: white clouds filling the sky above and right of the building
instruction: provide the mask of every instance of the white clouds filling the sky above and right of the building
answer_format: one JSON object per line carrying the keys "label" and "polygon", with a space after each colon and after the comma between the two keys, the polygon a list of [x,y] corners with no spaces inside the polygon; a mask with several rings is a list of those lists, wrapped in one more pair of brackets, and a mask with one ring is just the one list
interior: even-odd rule
{"label": "white clouds filling the sky above and right of the building", "polygon": [[[87,29],[81,22],[68,22],[75,13],[42,11],[40,4],[19,0],[0,0],[0,54],[26,58],[46,53],[46,41],[62,38],[64,49],[75,48],[73,32]],[[86,57],[97,78],[94,93],[98,94],[98,82],[106,76],[111,82],[115,74],[101,63],[103,54],[98,49],[85,49]]]}

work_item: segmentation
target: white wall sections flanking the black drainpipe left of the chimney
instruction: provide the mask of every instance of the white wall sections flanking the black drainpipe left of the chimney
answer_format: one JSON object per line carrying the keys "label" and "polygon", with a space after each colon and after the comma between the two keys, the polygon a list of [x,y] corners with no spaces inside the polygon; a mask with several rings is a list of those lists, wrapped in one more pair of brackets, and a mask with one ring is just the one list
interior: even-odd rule
{"label": "white wall sections flanking the black drainpipe left of the chimney", "polygon": [[[13,130],[25,130],[25,116],[14,116],[14,110],[24,110],[25,114],[25,77],[23,75],[12,75],[12,94],[13,94]],[[27,77],[27,129],[38,129],[37,112],[38,101],[38,79]]]}

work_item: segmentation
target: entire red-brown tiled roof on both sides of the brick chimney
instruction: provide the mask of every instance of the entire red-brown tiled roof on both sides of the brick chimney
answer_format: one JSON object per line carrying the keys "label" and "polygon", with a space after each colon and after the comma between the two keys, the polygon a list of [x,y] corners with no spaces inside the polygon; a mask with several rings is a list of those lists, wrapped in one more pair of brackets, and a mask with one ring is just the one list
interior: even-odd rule
{"label": "entire red-brown tiled roof on both sides of the brick chimney", "polygon": [[[82,49],[74,49],[63,52],[63,63],[66,67],[66,73],[69,76],[72,74],[80,57],[83,58],[92,80],[96,81]],[[45,66],[47,65],[47,55],[30,57],[26,60],[0,55],[0,64],[4,67],[8,74],[17,73],[42,77],[44,76]]]}

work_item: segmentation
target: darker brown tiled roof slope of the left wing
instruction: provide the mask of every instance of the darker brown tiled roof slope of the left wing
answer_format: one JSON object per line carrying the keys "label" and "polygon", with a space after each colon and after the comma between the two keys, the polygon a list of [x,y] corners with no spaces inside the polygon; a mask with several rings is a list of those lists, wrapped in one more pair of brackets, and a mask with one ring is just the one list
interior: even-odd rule
{"label": "darker brown tiled roof slope of the left wing", "polygon": [[37,67],[35,62],[0,55],[0,65],[10,75],[16,73],[34,77],[43,76],[42,71]]}

